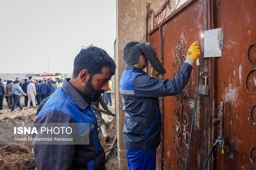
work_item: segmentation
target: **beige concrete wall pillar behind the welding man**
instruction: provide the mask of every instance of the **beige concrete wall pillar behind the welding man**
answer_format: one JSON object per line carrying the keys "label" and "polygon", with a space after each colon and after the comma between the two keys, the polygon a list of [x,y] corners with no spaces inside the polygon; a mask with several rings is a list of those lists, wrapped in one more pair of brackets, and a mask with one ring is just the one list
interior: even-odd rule
{"label": "beige concrete wall pillar behind the welding man", "polygon": [[118,92],[120,78],[125,68],[122,60],[123,48],[130,41],[146,41],[146,8],[151,3],[153,8],[159,9],[164,0],[117,0],[117,36],[114,43],[117,70],[115,74],[115,103],[117,113],[117,138],[118,138],[118,165],[120,170],[128,169],[126,152],[123,142],[124,111],[122,98]]}

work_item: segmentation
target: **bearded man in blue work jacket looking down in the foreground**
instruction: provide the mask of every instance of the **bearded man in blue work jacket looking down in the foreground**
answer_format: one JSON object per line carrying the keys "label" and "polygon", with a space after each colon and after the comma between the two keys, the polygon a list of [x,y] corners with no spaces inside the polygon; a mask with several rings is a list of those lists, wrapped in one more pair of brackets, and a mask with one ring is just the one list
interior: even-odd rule
{"label": "bearded man in blue work jacket looking down in the foreground", "polygon": [[[36,145],[37,169],[105,169],[105,152],[98,138],[98,125],[91,102],[108,90],[115,74],[114,60],[101,48],[82,49],[74,60],[72,78],[66,78],[38,113],[35,123],[88,123],[74,135],[89,134],[89,145]],[[83,131],[84,130],[84,131]],[[72,132],[73,133],[73,132]]]}

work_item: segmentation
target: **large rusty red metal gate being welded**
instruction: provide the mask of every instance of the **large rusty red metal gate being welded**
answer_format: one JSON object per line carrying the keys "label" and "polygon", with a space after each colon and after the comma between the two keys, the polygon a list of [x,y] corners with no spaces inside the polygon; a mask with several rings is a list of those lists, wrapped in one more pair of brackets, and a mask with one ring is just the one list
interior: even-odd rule
{"label": "large rusty red metal gate being welded", "polygon": [[[163,79],[175,76],[191,43],[204,30],[222,27],[222,57],[200,56],[200,72],[208,78],[210,90],[208,96],[198,95],[188,169],[203,169],[210,147],[220,136],[221,102],[229,102],[222,110],[225,149],[224,154],[221,147],[213,152],[208,169],[256,168],[255,5],[255,0],[187,0],[174,10],[175,4],[166,0],[155,12],[148,4],[148,41],[166,69]],[[203,52],[203,41],[198,45]],[[157,165],[161,169],[184,169],[196,79],[194,64],[184,90],[160,100],[163,127]]]}

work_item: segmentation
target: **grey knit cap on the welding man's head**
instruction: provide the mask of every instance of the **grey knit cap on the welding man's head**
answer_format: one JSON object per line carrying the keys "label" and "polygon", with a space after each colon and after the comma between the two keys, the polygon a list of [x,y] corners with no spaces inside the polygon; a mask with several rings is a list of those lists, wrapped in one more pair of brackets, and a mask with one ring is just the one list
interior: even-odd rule
{"label": "grey knit cap on the welding man's head", "polygon": [[134,45],[131,49],[129,49],[125,54],[123,53],[123,61],[127,65],[134,65],[139,60],[140,55],[143,53],[139,44]]}

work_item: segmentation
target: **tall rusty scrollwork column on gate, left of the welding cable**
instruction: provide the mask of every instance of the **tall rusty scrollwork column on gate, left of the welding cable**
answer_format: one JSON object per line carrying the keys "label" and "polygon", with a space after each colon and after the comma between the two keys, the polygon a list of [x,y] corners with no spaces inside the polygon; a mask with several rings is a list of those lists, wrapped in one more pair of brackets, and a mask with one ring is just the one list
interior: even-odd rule
{"label": "tall rusty scrollwork column on gate, left of the welding cable", "polygon": [[[185,61],[186,56],[182,55],[181,53],[184,50],[184,43],[182,40],[178,41],[177,45],[177,52],[178,55],[174,59],[173,63],[173,70],[174,75],[173,77],[178,74],[178,71],[182,67],[182,61]],[[179,66],[178,70],[175,70],[175,66]],[[189,79],[189,84],[186,86],[187,88],[190,87],[191,80]],[[183,89],[180,94],[174,95],[174,100],[179,101],[178,108],[174,109],[174,118],[177,123],[173,124],[172,130],[174,132],[174,148],[176,149],[177,153],[180,154],[180,158],[178,158],[178,167],[179,169],[184,168],[184,160],[186,160],[185,151],[188,149],[188,140],[189,140],[189,132],[185,131],[185,127],[188,127],[190,121],[188,115],[183,113],[183,103],[188,104],[189,102],[189,94],[186,90]]]}

